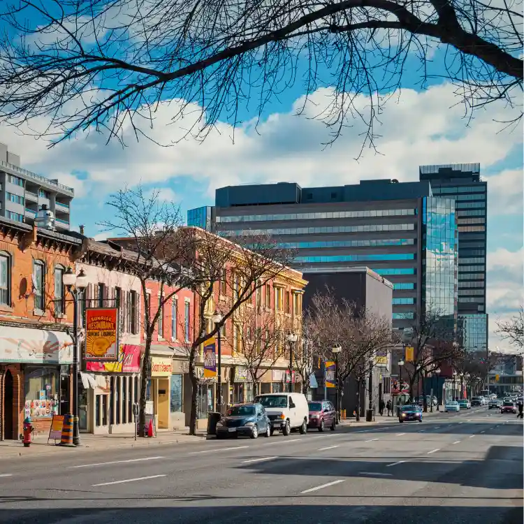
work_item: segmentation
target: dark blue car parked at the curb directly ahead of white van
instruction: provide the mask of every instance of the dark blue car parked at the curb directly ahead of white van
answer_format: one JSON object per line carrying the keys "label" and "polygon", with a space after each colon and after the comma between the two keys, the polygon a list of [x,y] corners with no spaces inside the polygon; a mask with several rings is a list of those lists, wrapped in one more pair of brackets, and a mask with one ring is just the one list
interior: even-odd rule
{"label": "dark blue car parked at the curb directly ahead of white van", "polygon": [[259,435],[271,435],[271,423],[264,408],[254,402],[245,402],[230,407],[217,422],[217,438],[229,435],[245,435],[256,439]]}

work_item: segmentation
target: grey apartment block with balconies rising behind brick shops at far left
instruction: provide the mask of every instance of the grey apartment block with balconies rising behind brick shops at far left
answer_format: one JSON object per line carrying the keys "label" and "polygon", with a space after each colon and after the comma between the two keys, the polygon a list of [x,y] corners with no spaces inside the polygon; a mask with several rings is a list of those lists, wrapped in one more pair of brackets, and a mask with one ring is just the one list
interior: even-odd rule
{"label": "grey apartment block with balconies rising behind brick shops at far left", "polygon": [[33,224],[36,213],[45,205],[54,214],[55,228],[67,231],[74,196],[72,187],[20,168],[20,157],[0,144],[1,216]]}

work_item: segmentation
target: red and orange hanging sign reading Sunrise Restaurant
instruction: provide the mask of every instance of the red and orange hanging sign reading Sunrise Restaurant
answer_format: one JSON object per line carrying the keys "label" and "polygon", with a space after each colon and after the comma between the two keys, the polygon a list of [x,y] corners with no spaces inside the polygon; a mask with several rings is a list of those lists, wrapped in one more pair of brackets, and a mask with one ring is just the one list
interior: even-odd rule
{"label": "red and orange hanging sign reading Sunrise Restaurant", "polygon": [[117,308],[87,308],[85,310],[86,361],[117,361]]}

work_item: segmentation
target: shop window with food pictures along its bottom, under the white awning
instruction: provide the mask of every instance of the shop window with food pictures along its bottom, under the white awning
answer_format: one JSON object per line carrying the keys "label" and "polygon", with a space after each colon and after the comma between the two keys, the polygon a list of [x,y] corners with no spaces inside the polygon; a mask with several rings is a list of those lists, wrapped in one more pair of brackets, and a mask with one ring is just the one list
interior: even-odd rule
{"label": "shop window with food pictures along its bottom, under the white awning", "polygon": [[26,366],[24,391],[24,416],[29,415],[35,419],[50,419],[53,414],[58,414],[58,367]]}

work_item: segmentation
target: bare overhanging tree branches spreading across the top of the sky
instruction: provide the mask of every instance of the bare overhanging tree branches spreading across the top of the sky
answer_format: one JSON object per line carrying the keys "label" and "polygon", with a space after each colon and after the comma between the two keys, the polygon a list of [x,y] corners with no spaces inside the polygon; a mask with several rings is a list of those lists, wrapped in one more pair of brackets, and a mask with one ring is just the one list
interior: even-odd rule
{"label": "bare overhanging tree branches spreading across the top of the sky", "polygon": [[92,128],[122,139],[127,125],[138,137],[162,101],[185,136],[203,138],[301,81],[307,96],[333,87],[328,107],[308,114],[332,140],[361,120],[363,147],[373,145],[413,60],[421,87],[456,84],[466,114],[521,104],[521,0],[12,0],[0,17],[0,115],[46,117],[38,134],[56,140]]}

